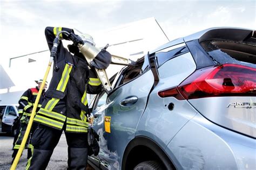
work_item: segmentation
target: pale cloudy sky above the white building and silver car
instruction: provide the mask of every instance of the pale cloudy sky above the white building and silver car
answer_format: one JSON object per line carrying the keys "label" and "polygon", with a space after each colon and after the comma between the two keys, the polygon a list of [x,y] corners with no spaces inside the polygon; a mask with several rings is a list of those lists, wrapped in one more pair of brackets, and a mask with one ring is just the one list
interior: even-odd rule
{"label": "pale cloudy sky above the white building and silver car", "polygon": [[256,1],[50,1],[0,0],[0,64],[48,49],[46,26],[76,28],[93,35],[155,17],[169,39],[215,26],[256,29]]}

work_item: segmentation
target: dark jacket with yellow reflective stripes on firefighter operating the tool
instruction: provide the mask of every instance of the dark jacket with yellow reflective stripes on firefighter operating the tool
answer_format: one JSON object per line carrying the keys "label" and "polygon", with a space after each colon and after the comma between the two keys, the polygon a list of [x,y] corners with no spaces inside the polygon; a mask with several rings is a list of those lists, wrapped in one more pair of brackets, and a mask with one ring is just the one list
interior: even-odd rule
{"label": "dark jacket with yellow reflective stripes on firefighter operating the tool", "polygon": [[[73,32],[72,29],[60,27],[45,29],[49,49],[57,33],[62,30]],[[68,39],[66,35],[60,34],[60,37]],[[95,71],[89,69],[83,55],[79,51],[72,55],[61,40],[57,56],[53,61],[53,68],[57,64],[59,70],[53,69],[48,91],[34,121],[57,130],[62,130],[66,123],[66,132],[86,133],[88,127],[86,114],[89,113],[86,94],[99,93],[102,90],[100,80]]]}

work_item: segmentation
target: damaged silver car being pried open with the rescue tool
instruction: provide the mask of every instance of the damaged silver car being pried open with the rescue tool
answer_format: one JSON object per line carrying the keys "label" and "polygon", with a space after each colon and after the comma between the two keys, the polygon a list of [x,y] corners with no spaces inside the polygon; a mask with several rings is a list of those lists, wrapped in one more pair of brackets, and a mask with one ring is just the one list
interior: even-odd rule
{"label": "damaged silver car being pried open with the rescue tool", "polygon": [[100,153],[89,164],[256,169],[256,31],[207,29],[137,64],[124,67],[111,79],[113,91],[92,101]]}

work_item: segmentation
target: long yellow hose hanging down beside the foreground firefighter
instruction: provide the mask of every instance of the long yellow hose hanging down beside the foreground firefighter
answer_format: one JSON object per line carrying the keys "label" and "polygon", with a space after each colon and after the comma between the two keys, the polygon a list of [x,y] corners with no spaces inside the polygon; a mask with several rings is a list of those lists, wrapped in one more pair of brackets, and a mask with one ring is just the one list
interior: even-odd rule
{"label": "long yellow hose hanging down beside the foreground firefighter", "polygon": [[24,147],[25,147],[26,140],[27,140],[28,137],[29,137],[29,133],[30,133],[31,126],[32,126],[32,123],[33,123],[33,119],[34,119],[35,114],[36,114],[37,105],[38,105],[39,99],[40,99],[40,97],[41,97],[41,94],[42,94],[42,91],[43,91],[43,88],[44,88],[44,85],[45,85],[45,81],[46,81],[46,79],[47,79],[47,77],[48,77],[48,74],[49,74],[49,71],[50,71],[50,69],[51,69],[52,60],[53,60],[53,58],[51,57],[51,58],[50,58],[50,61],[49,61],[49,64],[48,64],[48,67],[47,67],[47,70],[46,70],[46,72],[45,72],[45,74],[44,74],[43,82],[42,82],[41,87],[40,87],[40,89],[39,89],[39,92],[38,92],[38,94],[37,94],[35,104],[34,104],[34,106],[33,106],[33,110],[32,110],[32,113],[31,113],[31,116],[30,116],[30,119],[29,119],[28,127],[26,127],[26,132],[25,132],[24,137],[23,137],[23,139],[22,139],[22,143],[21,143],[21,146],[19,147],[19,150],[18,150],[18,153],[17,153],[17,155],[16,155],[16,157],[15,157],[15,160],[14,160],[14,162],[13,162],[12,165],[11,165],[11,168],[10,168],[11,170],[16,169],[16,166],[17,166],[17,164],[18,164],[18,162],[19,162],[19,159],[21,158],[23,149],[24,149]]}

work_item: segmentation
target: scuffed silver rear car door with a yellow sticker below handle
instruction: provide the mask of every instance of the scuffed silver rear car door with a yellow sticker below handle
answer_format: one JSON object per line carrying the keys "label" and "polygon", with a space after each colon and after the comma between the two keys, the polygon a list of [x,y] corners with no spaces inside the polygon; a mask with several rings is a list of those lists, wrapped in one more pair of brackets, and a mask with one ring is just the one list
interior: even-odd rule
{"label": "scuffed silver rear car door with a yellow sticker below handle", "polygon": [[[143,72],[142,72],[143,71]],[[100,136],[99,159],[102,165],[120,169],[127,144],[134,138],[136,127],[147,104],[154,84],[149,60],[138,67],[127,67],[120,74],[116,88],[106,97],[105,92],[98,100],[106,97],[105,104],[97,107],[93,128]]]}

